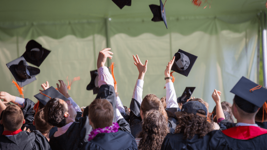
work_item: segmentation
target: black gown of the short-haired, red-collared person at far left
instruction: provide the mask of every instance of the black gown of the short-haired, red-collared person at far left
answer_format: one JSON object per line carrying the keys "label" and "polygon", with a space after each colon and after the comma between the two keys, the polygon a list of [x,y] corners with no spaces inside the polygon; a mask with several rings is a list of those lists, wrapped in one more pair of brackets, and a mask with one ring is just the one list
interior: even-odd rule
{"label": "black gown of the short-haired, red-collared person at far left", "polygon": [[50,150],[48,140],[39,131],[21,131],[12,136],[0,136],[1,150]]}

